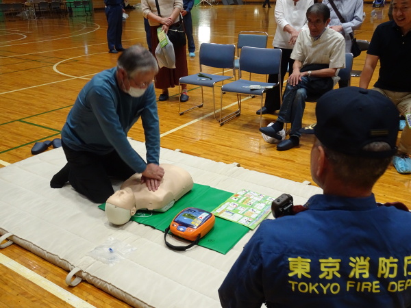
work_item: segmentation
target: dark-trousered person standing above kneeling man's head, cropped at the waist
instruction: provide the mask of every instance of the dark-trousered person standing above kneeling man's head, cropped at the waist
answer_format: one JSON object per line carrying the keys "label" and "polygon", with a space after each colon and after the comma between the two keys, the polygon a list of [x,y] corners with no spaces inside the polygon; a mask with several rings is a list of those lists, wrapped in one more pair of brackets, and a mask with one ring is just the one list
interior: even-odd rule
{"label": "dark-trousered person standing above kneeling man's head, cropped at the waist", "polygon": [[119,53],[124,51],[121,44],[121,34],[123,32],[123,0],[104,0],[105,16],[107,17],[107,42],[109,53]]}

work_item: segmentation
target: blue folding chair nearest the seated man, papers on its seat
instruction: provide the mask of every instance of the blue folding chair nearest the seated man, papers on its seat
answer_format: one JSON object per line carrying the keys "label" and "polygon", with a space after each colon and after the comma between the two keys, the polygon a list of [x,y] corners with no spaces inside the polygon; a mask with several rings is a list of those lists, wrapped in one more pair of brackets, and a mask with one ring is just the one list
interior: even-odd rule
{"label": "blue folding chair nearest the seated man, papers on its seat", "polygon": [[[279,86],[279,84],[253,81],[242,79],[243,72],[260,74],[260,75],[278,75],[280,80],[281,75],[281,49],[268,49],[268,48],[256,48],[256,47],[243,47],[240,57],[239,66],[239,79],[229,84],[225,84],[221,87],[221,92],[232,92],[237,94],[238,110],[232,112],[228,116],[225,116],[225,120],[221,121],[220,125],[223,125],[228,120],[239,116],[241,113],[241,94],[247,94],[251,96],[261,97],[261,107],[263,102],[264,93],[267,88],[273,88]],[[250,86],[253,86],[250,88]],[[279,91],[281,92],[281,91]],[[281,102],[282,97],[279,94],[279,100]],[[223,96],[221,96],[220,112],[223,110]],[[262,125],[262,114],[260,114],[260,127]]]}

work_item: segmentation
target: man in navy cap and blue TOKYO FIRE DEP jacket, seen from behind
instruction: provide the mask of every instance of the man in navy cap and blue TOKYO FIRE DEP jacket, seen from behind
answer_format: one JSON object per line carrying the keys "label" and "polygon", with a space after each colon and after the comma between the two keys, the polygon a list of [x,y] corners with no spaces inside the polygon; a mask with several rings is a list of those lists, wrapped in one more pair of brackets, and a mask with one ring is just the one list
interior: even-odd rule
{"label": "man in navy cap and blue TOKYO FIRE DEP jacket, seen from behind", "polygon": [[319,99],[311,175],[324,194],[260,224],[219,289],[223,307],[410,307],[411,213],[372,192],[395,154],[398,116],[371,90]]}

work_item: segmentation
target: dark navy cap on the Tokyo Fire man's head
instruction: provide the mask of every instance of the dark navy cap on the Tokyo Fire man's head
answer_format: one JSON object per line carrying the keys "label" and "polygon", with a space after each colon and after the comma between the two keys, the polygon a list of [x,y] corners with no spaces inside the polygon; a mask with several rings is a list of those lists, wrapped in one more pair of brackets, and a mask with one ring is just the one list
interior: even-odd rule
{"label": "dark navy cap on the Tokyo Fire man's head", "polygon": [[[316,103],[315,114],[315,136],[329,149],[361,157],[390,157],[397,151],[399,112],[377,91],[358,87],[331,90]],[[388,143],[391,150],[362,150],[377,141]]]}

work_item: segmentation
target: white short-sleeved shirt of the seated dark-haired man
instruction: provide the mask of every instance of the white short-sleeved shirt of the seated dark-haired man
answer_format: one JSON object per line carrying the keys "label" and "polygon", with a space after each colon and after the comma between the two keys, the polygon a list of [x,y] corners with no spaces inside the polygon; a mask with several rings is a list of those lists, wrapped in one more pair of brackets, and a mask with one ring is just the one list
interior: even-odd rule
{"label": "white short-sleeved shirt of the seated dark-haired man", "polygon": [[[291,59],[298,60],[303,66],[308,64],[329,64],[329,68],[345,67],[345,40],[344,37],[333,29],[325,28],[323,34],[317,39],[310,34],[310,29],[301,30],[295,47],[291,53]],[[334,84],[340,79],[336,75],[332,77]]]}

